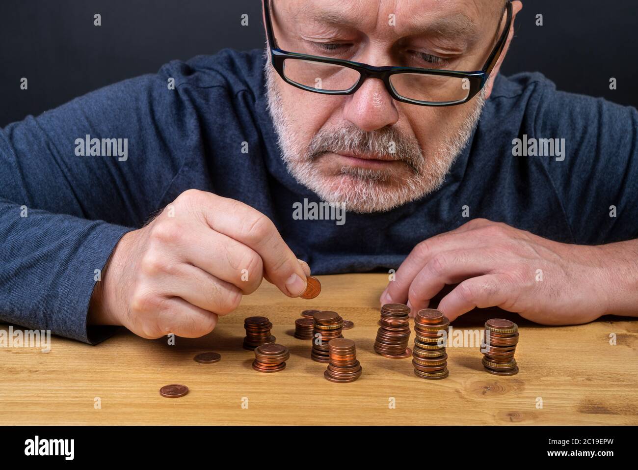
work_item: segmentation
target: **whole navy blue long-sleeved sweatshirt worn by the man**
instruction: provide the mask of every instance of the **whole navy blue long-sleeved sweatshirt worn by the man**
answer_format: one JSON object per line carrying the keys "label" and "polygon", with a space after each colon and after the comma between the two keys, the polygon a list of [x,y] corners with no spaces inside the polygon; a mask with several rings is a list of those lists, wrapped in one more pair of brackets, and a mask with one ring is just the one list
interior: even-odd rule
{"label": "whole navy blue long-sleeved sweatshirt worn by the man", "polygon": [[[173,61],[1,130],[0,321],[103,340],[112,328],[87,327],[96,270],[189,188],[269,216],[318,274],[396,269],[420,241],[477,217],[568,243],[638,236],[638,112],[539,73],[496,77],[437,192],[343,225],[293,220],[299,202],[320,201],[279,156],[262,69],[262,50]],[[558,139],[556,155],[530,156],[537,139]]]}

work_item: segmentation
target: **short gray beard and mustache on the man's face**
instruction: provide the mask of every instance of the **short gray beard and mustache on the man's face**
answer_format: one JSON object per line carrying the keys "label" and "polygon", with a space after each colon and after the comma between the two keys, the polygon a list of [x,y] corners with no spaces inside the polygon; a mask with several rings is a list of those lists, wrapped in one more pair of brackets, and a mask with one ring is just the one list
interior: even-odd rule
{"label": "short gray beard and mustache on the man's face", "polygon": [[[345,204],[346,210],[355,213],[389,211],[438,190],[445,182],[450,167],[468,144],[486,101],[484,87],[460,128],[446,136],[438,149],[427,157],[423,155],[416,139],[396,129],[364,132],[353,125],[322,129],[304,146],[300,144],[302,139],[283,109],[283,100],[276,83],[279,76],[271,65],[269,49],[265,50],[264,75],[268,110],[288,172],[322,201]],[[329,149],[387,155],[389,144],[396,147],[396,159],[402,160],[412,170],[407,177],[401,174],[401,184],[392,188],[383,183],[394,177],[399,178],[395,172],[343,167],[338,181],[327,181],[313,166],[316,157]]]}

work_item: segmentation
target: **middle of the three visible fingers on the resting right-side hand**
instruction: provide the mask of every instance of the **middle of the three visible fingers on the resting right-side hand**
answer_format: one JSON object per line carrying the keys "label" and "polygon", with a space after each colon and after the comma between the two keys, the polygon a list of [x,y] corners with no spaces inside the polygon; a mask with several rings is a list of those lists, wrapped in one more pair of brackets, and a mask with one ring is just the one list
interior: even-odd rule
{"label": "middle of the three visible fingers on the resting right-side hand", "polygon": [[434,255],[408,289],[412,313],[427,308],[429,301],[445,285],[458,284],[467,278],[490,273],[493,267],[486,250],[449,250]]}

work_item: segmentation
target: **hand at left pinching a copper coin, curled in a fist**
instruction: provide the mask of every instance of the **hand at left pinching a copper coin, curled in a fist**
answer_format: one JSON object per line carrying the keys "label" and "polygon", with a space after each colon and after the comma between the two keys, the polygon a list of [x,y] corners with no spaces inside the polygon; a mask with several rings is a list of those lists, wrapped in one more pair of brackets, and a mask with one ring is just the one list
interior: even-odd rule
{"label": "hand at left pinching a copper coin, curled in a fist", "polygon": [[124,325],[143,338],[200,337],[262,278],[297,297],[309,274],[267,216],[188,190],[117,243],[91,297],[89,322]]}

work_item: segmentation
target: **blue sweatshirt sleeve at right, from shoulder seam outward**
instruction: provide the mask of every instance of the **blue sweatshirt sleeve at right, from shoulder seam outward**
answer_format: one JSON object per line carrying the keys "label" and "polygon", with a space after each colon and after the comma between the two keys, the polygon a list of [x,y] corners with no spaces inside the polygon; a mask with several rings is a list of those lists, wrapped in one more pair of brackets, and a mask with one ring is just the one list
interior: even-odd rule
{"label": "blue sweatshirt sleeve at right, from shoulder seam outward", "polygon": [[545,86],[534,121],[563,150],[540,161],[575,243],[638,238],[638,111]]}

